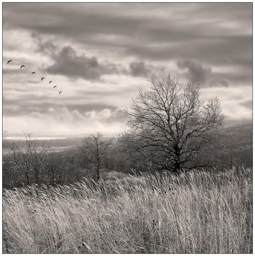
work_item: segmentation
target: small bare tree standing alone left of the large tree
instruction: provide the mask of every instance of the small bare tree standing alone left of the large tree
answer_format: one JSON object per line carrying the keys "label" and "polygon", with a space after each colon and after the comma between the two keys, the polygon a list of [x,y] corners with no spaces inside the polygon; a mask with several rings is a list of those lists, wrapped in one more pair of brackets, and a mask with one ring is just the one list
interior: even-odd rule
{"label": "small bare tree standing alone left of the large tree", "polygon": [[106,160],[108,149],[114,137],[103,139],[102,133],[90,133],[82,138],[82,145],[79,147],[82,156],[95,168],[97,180],[100,179],[100,168]]}

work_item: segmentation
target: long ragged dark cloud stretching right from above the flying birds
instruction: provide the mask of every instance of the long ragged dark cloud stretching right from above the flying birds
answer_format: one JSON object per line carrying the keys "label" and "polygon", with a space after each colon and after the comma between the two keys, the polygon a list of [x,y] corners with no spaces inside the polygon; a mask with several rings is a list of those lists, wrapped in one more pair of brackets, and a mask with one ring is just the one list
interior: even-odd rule
{"label": "long ragged dark cloud stretching right from above the flying birds", "polygon": [[97,57],[87,57],[78,55],[71,46],[59,47],[52,41],[42,41],[37,33],[32,33],[32,37],[38,45],[37,51],[50,56],[54,63],[46,68],[50,74],[60,74],[70,78],[83,78],[86,80],[98,80],[103,75],[124,74],[134,77],[150,77],[163,74],[163,67],[147,65],[144,61],[134,61],[126,69],[120,64],[109,61],[99,63]]}

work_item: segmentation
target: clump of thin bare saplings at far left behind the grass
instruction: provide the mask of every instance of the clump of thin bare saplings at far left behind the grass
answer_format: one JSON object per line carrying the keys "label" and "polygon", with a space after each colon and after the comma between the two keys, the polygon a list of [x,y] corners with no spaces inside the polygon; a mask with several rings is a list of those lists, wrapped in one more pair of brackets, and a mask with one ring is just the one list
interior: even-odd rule
{"label": "clump of thin bare saplings at far left behind the grass", "polygon": [[20,144],[8,144],[7,168],[3,168],[3,178],[8,179],[6,185],[65,184],[67,170],[60,155],[50,145],[40,146],[38,138],[32,138],[31,134],[25,138]]}

